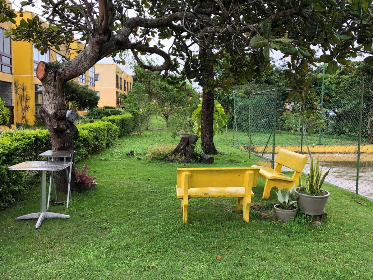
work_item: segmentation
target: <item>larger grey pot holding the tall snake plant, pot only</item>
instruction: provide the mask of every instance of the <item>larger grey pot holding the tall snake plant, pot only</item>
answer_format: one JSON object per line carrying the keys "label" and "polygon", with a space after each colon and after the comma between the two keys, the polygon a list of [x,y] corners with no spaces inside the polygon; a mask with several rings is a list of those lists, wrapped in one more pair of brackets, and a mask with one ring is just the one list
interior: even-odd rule
{"label": "larger grey pot holding the tall snake plant, pot only", "polygon": [[298,197],[298,206],[301,212],[313,216],[323,214],[326,201],[330,195],[327,190],[323,191],[327,194],[321,196],[313,196],[300,193],[299,188],[295,189],[295,195]]}

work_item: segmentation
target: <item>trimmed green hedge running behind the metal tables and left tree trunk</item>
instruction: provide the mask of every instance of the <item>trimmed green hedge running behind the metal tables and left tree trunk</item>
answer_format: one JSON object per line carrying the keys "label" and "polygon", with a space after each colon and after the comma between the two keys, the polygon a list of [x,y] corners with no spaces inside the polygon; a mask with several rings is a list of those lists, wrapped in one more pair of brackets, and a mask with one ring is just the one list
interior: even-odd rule
{"label": "trimmed green hedge running behind the metal tables and left tree trunk", "polygon": [[[75,161],[106,149],[119,135],[129,133],[133,127],[132,119],[132,115],[125,114],[115,121],[77,125],[79,135],[75,141]],[[0,209],[9,206],[32,185],[26,172],[10,171],[8,167],[40,159],[38,155],[48,149],[51,149],[48,130],[10,130],[0,136]]]}

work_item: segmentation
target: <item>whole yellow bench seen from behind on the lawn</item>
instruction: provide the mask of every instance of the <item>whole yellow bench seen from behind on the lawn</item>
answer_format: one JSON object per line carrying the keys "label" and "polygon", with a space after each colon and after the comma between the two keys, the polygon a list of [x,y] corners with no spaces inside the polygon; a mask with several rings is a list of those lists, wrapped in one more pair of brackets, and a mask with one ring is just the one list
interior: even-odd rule
{"label": "whole yellow bench seen from behind on the lawn", "polygon": [[178,168],[176,197],[181,199],[183,221],[188,221],[188,199],[192,197],[237,197],[236,211],[244,208],[249,221],[251,191],[256,186],[259,167]]}

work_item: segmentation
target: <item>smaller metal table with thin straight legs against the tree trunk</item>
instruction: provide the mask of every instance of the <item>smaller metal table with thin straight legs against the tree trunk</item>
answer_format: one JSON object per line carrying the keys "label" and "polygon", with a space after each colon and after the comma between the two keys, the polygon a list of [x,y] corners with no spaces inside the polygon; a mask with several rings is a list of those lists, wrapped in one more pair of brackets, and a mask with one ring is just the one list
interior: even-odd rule
{"label": "smaller metal table with thin straight legs against the tree trunk", "polygon": [[[48,158],[48,161],[52,159],[52,161],[55,160],[55,158],[63,158],[63,161],[66,162],[66,158],[69,158],[70,162],[74,162],[74,153],[76,151],[74,150],[47,150],[44,153],[41,153],[39,156],[42,156],[43,158]],[[68,198],[66,201],[66,209],[69,208],[69,200],[72,198],[71,191],[70,191],[70,185],[71,185],[71,169],[72,166],[70,166],[70,171],[68,172],[68,169],[66,168],[66,179],[68,180]],[[49,200],[50,200],[50,190],[51,186],[53,184],[53,190],[54,190],[54,199],[56,203],[63,203],[65,201],[58,201],[57,199],[57,193],[56,193],[56,184],[53,179],[53,171],[50,172],[50,181],[49,181],[49,191],[48,191],[48,202],[47,202],[47,209],[49,209]]]}

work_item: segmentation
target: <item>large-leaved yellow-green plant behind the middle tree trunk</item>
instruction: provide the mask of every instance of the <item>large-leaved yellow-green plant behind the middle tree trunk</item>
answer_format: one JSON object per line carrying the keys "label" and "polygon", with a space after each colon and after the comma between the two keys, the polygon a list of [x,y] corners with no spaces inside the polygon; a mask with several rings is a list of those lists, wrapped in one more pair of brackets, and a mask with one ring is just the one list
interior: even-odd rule
{"label": "large-leaved yellow-green plant behind the middle tree trunk", "polygon": [[[198,136],[201,135],[201,115],[202,115],[202,102],[198,104],[197,109],[192,113],[193,131]],[[214,102],[214,124],[213,133],[215,135],[216,131],[219,134],[223,133],[223,126],[228,123],[228,116],[225,114],[222,105],[215,101]]]}

